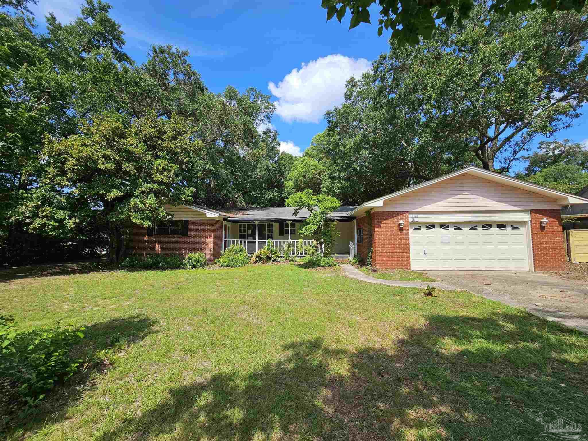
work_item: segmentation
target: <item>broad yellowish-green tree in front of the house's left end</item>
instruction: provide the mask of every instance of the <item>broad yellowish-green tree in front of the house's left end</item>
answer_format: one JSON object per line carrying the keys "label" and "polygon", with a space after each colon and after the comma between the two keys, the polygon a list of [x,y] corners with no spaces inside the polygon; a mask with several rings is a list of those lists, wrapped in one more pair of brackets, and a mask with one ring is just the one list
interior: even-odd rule
{"label": "broad yellowish-green tree in front of the house's left end", "polygon": [[[205,173],[207,162],[191,127],[176,115],[158,119],[152,113],[132,125],[119,115],[96,116],[81,124],[79,135],[46,139],[40,189],[75,196],[83,201],[85,214],[91,208],[108,234],[109,258],[118,263],[133,223],[152,226],[169,218],[164,204],[192,202],[193,183]],[[59,225],[64,223],[64,206],[54,214]],[[69,214],[71,219],[77,216]]]}

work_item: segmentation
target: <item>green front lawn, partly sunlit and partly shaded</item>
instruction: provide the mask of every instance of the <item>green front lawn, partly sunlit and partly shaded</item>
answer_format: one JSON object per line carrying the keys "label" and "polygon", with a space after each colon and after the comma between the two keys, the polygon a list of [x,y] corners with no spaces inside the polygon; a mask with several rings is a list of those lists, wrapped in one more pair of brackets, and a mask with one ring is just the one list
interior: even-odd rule
{"label": "green front lawn, partly sunlit and partly shaded", "polygon": [[32,275],[0,275],[2,312],[85,324],[90,364],[9,440],[536,440],[547,410],[588,432],[588,336],[466,292],[295,265]]}

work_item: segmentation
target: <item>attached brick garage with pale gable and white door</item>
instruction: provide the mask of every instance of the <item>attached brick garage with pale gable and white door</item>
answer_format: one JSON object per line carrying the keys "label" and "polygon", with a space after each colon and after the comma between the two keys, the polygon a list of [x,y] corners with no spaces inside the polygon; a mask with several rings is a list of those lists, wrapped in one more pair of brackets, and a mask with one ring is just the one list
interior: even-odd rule
{"label": "attached brick garage with pale gable and white door", "polygon": [[[474,166],[355,209],[372,266],[414,270],[561,270],[562,205],[588,199]],[[365,231],[368,231],[366,234]]]}

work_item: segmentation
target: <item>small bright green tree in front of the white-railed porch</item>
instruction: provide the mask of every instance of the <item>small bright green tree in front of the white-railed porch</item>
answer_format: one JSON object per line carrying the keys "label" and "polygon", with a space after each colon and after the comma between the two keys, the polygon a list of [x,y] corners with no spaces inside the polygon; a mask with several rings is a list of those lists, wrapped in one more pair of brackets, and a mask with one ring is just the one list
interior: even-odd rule
{"label": "small bright green tree in front of the white-railed porch", "polygon": [[330,220],[328,216],[341,206],[339,200],[323,194],[315,196],[310,190],[305,190],[290,196],[286,205],[295,207],[294,216],[297,216],[303,208],[309,211],[310,214],[302,222],[298,233],[303,236],[312,236],[320,245],[322,253],[330,255],[339,231],[335,227],[335,221]]}

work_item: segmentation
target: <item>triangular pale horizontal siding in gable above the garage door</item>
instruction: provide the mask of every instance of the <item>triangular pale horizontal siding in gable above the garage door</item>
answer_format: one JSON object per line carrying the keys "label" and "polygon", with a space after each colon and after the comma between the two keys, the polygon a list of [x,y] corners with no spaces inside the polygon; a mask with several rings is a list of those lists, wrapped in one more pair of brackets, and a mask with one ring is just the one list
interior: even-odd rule
{"label": "triangular pale horizontal siding in gable above the garage door", "polygon": [[559,209],[554,199],[463,174],[384,202],[375,211],[497,211]]}

